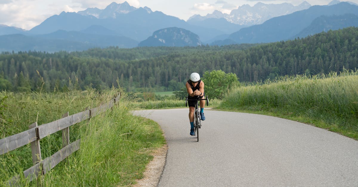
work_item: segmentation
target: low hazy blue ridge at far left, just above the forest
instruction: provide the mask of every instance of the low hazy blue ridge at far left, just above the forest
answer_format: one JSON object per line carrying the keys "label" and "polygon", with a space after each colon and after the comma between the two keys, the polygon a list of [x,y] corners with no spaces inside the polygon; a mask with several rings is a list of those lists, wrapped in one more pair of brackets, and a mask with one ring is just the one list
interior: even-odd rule
{"label": "low hazy blue ridge at far left, just above the forest", "polygon": [[83,51],[89,48],[108,46],[132,48],[137,44],[136,40],[127,37],[64,30],[34,36],[22,34],[0,36],[0,51]]}

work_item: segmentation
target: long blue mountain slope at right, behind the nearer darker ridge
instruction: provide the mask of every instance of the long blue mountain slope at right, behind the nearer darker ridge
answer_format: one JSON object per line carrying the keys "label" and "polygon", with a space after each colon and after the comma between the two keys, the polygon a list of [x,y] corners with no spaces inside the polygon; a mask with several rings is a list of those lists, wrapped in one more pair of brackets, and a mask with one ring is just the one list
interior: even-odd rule
{"label": "long blue mountain slope at right, behind the nearer darker ridge", "polygon": [[267,43],[287,40],[308,27],[314,19],[321,15],[347,13],[358,15],[358,6],[345,2],[331,6],[316,5],[307,10],[272,18],[260,25],[242,28],[240,31],[232,33],[228,39],[237,43]]}

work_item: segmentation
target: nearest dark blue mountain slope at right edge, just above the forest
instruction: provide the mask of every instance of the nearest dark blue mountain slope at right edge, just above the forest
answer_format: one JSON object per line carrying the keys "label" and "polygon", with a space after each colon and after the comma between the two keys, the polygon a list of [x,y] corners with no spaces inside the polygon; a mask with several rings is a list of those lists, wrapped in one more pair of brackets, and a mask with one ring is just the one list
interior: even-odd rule
{"label": "nearest dark blue mountain slope at right edge, just above the forest", "polygon": [[311,25],[303,29],[298,33],[294,38],[306,37],[309,35],[314,35],[320,32],[327,32],[328,30],[338,30],[347,27],[358,27],[358,16],[354,14],[344,14],[344,15],[333,15],[326,16],[322,15],[312,21]]}

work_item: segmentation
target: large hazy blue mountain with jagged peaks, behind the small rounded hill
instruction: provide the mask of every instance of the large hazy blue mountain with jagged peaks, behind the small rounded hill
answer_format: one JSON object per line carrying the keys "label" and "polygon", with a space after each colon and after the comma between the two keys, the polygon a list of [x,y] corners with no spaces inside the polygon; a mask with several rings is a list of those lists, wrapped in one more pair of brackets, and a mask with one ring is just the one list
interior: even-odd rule
{"label": "large hazy blue mountain with jagged peaks, behind the small rounded hill", "polygon": [[[133,9],[131,6],[128,7],[128,5],[126,2],[122,4],[112,3],[103,10],[89,9],[88,12],[90,13],[88,14],[85,12],[81,14],[62,12],[60,15],[54,15],[46,19],[29,32],[33,34],[47,34],[57,30],[81,31],[92,25],[99,25],[114,31],[118,35],[126,36],[137,41],[148,38],[156,30],[169,27],[179,27],[190,30],[199,34],[200,37],[205,40],[220,34],[225,34],[221,30],[213,27],[190,25],[184,20],[166,15],[160,11],[153,12],[148,7]],[[96,18],[94,15],[97,15],[97,13],[98,17],[101,18],[102,15],[103,19]],[[88,33],[88,30],[86,33]]]}

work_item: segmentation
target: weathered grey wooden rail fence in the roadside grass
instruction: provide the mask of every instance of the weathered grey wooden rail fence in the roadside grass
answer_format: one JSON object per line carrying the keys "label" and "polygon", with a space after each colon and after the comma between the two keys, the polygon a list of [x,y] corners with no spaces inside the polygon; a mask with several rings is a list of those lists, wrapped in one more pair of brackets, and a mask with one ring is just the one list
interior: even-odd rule
{"label": "weathered grey wooden rail fence in the roadside grass", "polygon": [[[8,136],[0,140],[0,155],[8,153],[11,150],[17,149],[26,144],[31,144],[32,162],[33,166],[26,169],[24,177],[29,181],[33,181],[39,175],[47,173],[50,169],[55,167],[63,159],[79,149],[81,139],[69,143],[69,126],[79,123],[81,121],[90,119],[107,109],[110,109],[116,101],[119,101],[121,94],[113,98],[107,104],[100,105],[96,108],[85,110],[77,114],[68,116],[68,112],[62,116],[61,119],[38,126],[37,122],[29,126],[29,130],[23,131],[12,136]],[[42,159],[40,139],[53,134],[57,131],[62,131],[62,149],[50,157]],[[17,185],[19,176],[15,176],[9,180],[9,185]]]}

